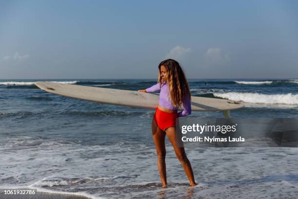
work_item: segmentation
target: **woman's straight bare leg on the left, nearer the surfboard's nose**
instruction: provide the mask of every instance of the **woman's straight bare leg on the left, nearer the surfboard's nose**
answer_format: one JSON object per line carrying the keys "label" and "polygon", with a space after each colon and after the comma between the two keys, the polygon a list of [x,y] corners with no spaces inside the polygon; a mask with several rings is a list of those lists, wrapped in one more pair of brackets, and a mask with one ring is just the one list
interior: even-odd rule
{"label": "woman's straight bare leg on the left, nearer the surfboard's nose", "polygon": [[154,121],[154,119],[152,119],[152,137],[156,148],[157,167],[159,170],[159,176],[162,181],[163,187],[166,187],[167,186],[166,146],[165,146],[166,132],[162,131],[156,125],[156,122]]}

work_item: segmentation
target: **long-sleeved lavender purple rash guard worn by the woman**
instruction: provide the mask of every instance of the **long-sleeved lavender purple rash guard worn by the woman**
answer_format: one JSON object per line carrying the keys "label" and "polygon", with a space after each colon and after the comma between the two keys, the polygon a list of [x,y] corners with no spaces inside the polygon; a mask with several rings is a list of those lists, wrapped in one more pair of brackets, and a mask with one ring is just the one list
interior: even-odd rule
{"label": "long-sleeved lavender purple rash guard worn by the woman", "polygon": [[[159,104],[167,109],[171,109],[171,110],[178,110],[177,108],[175,108],[171,102],[170,102],[170,98],[168,95],[168,85],[167,83],[163,83],[161,86],[159,83],[149,87],[146,89],[147,93],[158,93],[160,91],[159,94]],[[184,117],[187,116],[189,114],[191,114],[191,106],[190,106],[190,100],[187,97],[186,101],[183,102],[183,107],[184,109],[178,113],[178,117]]]}

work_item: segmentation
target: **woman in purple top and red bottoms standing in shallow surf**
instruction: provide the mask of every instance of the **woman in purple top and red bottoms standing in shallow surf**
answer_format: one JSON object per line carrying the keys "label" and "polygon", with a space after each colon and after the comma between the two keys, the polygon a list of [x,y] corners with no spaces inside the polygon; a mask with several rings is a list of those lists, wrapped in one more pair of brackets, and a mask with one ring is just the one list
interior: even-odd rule
{"label": "woman in purple top and red bottoms standing in shallow surf", "polygon": [[[184,147],[178,147],[176,143],[176,118],[191,114],[190,91],[186,77],[179,63],[175,60],[164,60],[158,65],[158,83],[140,92],[160,92],[158,106],[152,119],[152,135],[157,152],[157,166],[162,187],[167,187],[166,175],[166,146],[167,135],[175,154],[181,162],[189,179],[190,186],[195,183],[192,168],[186,157]],[[183,105],[184,109],[177,113]]]}

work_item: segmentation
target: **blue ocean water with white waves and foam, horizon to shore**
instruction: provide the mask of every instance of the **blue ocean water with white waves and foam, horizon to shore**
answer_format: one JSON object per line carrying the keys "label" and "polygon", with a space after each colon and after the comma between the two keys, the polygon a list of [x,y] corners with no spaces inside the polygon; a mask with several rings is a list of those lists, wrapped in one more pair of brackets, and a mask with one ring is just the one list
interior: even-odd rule
{"label": "blue ocean water with white waves and foam, horizon to shore", "polygon": [[[297,148],[186,148],[196,187],[167,146],[160,188],[154,111],[99,104],[0,80],[0,188],[31,187],[92,198],[298,198]],[[139,90],[156,80],[49,80]],[[189,80],[192,96],[240,100],[235,118],[298,118],[298,80]],[[121,96],[119,96],[121,97]],[[221,112],[187,117],[222,118]]]}

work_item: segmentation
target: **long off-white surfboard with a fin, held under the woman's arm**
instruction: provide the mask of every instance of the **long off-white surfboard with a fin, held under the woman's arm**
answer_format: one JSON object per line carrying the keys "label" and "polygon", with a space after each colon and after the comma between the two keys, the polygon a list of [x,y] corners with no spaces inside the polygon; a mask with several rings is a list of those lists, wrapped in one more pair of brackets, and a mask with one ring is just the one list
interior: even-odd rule
{"label": "long off-white surfboard with a fin, held under the woman's arm", "polygon": [[[139,91],[81,86],[47,81],[37,81],[35,82],[35,85],[47,92],[68,98],[136,108],[155,109],[159,101],[158,94],[143,93]],[[244,107],[244,104],[232,100],[191,97],[192,111],[223,111],[226,118],[229,118],[229,110],[239,109],[242,107]]]}

